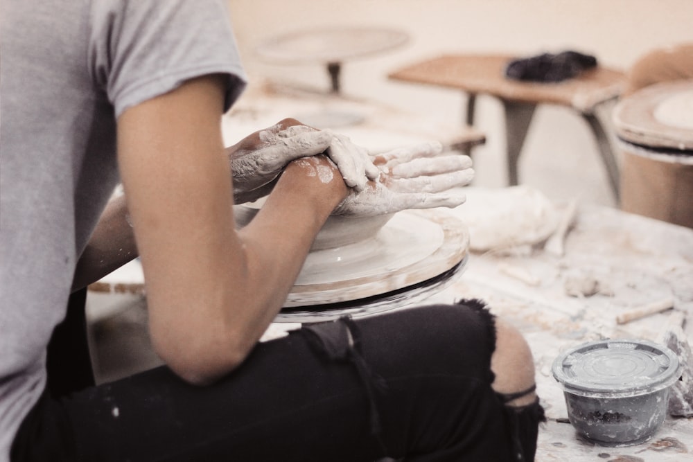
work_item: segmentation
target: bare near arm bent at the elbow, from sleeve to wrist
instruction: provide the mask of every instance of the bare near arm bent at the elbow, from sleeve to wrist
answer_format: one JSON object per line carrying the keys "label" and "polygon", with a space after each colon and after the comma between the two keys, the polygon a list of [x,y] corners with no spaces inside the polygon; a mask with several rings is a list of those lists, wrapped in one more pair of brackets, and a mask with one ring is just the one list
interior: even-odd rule
{"label": "bare near arm bent at the elbow, from sleeve to wrist", "polygon": [[173,371],[198,384],[245,359],[347,194],[326,158],[293,162],[253,222],[236,231],[222,101],[221,78],[207,76],[127,109],[118,123],[152,342]]}

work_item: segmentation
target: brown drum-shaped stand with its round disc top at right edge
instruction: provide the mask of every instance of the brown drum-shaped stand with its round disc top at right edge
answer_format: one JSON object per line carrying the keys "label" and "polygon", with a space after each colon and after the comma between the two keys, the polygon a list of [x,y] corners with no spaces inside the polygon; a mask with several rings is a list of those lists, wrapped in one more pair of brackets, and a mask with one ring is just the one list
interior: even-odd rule
{"label": "brown drum-shaped stand with its round disc top at right edge", "polygon": [[620,208],[693,228],[693,80],[636,91],[614,108]]}

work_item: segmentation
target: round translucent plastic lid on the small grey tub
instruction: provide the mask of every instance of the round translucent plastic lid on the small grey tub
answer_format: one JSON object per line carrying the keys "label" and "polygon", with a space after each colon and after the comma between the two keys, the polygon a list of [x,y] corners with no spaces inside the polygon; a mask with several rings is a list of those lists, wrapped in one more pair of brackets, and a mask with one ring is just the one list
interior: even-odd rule
{"label": "round translucent plastic lid on the small grey tub", "polygon": [[581,396],[635,396],[669,387],[681,375],[678,357],[647,340],[590,341],[565,351],[552,372],[565,391]]}

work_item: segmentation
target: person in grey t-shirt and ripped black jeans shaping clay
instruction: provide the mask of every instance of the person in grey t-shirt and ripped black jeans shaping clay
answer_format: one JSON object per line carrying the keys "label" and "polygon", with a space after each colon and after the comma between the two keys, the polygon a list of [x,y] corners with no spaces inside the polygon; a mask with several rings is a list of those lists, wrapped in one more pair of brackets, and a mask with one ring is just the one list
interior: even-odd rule
{"label": "person in grey t-shirt and ripped black jeans shaping clay", "polygon": [[[5,6],[0,457],[533,458],[531,353],[481,303],[257,344],[328,215],[455,206],[466,159],[439,170],[441,188],[401,191],[344,139],[284,121],[229,163],[220,116],[245,75],[222,1]],[[119,179],[126,202],[99,221]],[[240,231],[234,193],[269,193]],[[136,254],[166,366],[56,396],[45,355],[71,290]]]}

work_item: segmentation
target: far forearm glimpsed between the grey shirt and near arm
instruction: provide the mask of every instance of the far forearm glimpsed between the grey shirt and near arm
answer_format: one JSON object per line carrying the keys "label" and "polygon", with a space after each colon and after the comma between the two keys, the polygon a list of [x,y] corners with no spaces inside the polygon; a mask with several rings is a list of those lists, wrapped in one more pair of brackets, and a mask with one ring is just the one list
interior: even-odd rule
{"label": "far forearm glimpsed between the grey shirt and near arm", "polygon": [[128,222],[125,195],[107,204],[96,229],[77,262],[72,290],[98,281],[137,257],[137,245]]}

